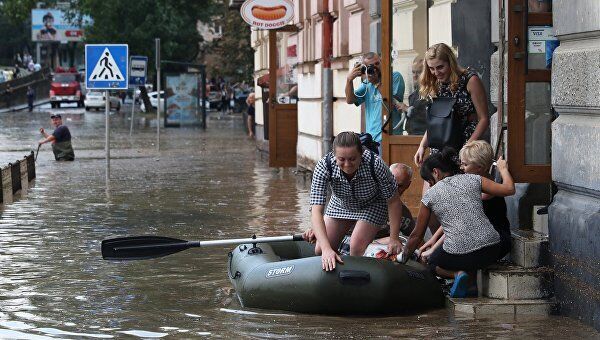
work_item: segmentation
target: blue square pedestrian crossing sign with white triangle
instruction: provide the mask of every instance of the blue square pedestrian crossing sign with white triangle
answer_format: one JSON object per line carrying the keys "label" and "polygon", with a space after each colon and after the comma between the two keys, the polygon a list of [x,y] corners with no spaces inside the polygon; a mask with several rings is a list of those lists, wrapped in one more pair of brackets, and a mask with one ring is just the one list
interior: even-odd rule
{"label": "blue square pedestrian crossing sign with white triangle", "polygon": [[127,90],[129,46],[85,45],[85,87],[95,90]]}

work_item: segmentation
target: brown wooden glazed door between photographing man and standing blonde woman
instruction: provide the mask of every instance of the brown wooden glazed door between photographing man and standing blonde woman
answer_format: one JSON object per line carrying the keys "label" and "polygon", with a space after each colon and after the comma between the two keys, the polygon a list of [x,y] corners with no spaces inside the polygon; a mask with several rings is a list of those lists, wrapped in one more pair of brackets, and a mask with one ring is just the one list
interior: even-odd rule
{"label": "brown wooden glazed door between photographing man and standing blonde woman", "polygon": [[[402,201],[416,216],[423,180],[413,159],[427,128],[425,103],[419,100],[418,95],[418,77],[428,47],[428,1],[414,0],[410,3],[410,6],[400,6],[395,1],[381,3],[382,67],[389,67],[390,71],[402,75],[405,85],[402,103],[406,105],[405,110],[411,107],[408,113],[400,110],[383,112],[382,119],[387,124],[382,133],[382,142],[383,159],[388,164],[404,163],[413,169],[412,184],[402,195]],[[390,108],[395,100],[390,99],[391,92],[387,89],[391,88],[392,77],[383,77],[383,100]]]}

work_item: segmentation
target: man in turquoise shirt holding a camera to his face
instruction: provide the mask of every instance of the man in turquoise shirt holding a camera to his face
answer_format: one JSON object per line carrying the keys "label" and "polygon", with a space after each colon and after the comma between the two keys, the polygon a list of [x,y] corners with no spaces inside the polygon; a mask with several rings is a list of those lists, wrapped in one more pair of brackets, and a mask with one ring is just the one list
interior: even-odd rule
{"label": "man in turquoise shirt holding a camera to his face", "polygon": [[[361,77],[362,83],[354,90],[353,81]],[[404,98],[404,78],[400,72],[392,73],[392,92],[394,106],[400,108]],[[381,57],[374,52],[365,53],[362,63],[357,63],[346,78],[346,103],[360,106],[365,104],[365,130],[373,140],[381,145],[381,128],[383,99],[379,90],[381,86]],[[387,112],[391,114],[391,112]],[[381,146],[379,150],[381,154]]]}

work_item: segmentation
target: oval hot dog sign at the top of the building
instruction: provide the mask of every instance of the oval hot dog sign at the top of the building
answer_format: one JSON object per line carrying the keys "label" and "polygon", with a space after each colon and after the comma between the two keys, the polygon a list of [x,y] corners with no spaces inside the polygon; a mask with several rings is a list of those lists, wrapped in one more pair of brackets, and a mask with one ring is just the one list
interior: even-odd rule
{"label": "oval hot dog sign at the top of the building", "polygon": [[292,20],[294,4],[291,0],[246,0],[240,12],[250,26],[270,30]]}

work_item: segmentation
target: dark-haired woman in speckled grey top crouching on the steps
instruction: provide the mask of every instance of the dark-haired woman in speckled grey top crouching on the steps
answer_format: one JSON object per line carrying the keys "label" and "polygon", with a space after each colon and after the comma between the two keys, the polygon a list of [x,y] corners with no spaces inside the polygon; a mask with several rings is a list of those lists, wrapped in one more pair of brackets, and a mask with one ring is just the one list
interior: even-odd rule
{"label": "dark-haired woman in speckled grey top crouching on the steps", "polygon": [[438,276],[454,278],[451,297],[465,297],[474,283],[475,271],[504,256],[500,235],[486,217],[481,193],[510,196],[515,185],[506,161],[497,162],[503,183],[475,174],[457,174],[453,158],[456,151],[445,148],[432,154],[421,167],[421,177],[431,185],[421,200],[417,225],[401,254],[406,261],[423,239],[433,214],[439,220],[446,239],[429,258],[429,268]]}

